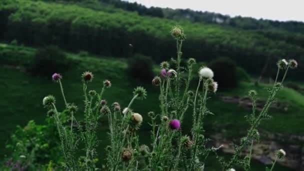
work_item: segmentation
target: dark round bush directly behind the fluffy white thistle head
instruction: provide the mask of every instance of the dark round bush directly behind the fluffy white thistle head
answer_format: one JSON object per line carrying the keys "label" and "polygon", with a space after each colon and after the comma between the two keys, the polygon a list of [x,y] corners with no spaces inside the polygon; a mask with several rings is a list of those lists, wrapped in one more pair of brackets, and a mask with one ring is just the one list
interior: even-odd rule
{"label": "dark round bush directly behind the fluffy white thistle head", "polygon": [[235,87],[238,82],[236,64],[227,57],[220,57],[211,61],[208,65],[214,72],[214,80],[221,88]]}

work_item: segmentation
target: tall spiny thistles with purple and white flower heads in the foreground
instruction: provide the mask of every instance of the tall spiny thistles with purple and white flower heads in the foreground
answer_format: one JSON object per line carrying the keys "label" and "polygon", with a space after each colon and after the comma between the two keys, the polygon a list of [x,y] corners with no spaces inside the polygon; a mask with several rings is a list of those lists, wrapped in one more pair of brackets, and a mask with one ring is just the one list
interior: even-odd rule
{"label": "tall spiny thistles with purple and white flower heads in the foreground", "polygon": [[[196,64],[194,58],[187,60],[186,67],[181,66],[182,43],[186,36],[180,26],[171,29],[171,35],[176,40],[176,59],[171,62],[176,67],[170,66],[168,61],[160,63],[159,75],[156,75],[151,83],[159,88],[159,110],[147,113],[150,118],[150,144],[140,144],[137,134],[141,124],[145,121],[141,114],[134,110],[135,100],[146,98],[146,90],[138,86],[134,88],[132,98],[127,106],[121,107],[118,102],[108,104],[103,97],[104,91],[111,86],[109,80],[102,82],[98,93],[95,90],[87,90],[88,84],[94,76],[86,71],[81,75],[84,97],[84,120],[78,122],[74,114],[77,107],[68,103],[61,83],[62,76],[58,73],[52,75],[52,79],[59,83],[65,108],[58,112],[55,106],[55,98],[48,95],[43,98],[43,105],[49,109],[48,113],[57,126],[60,138],[64,167],[67,170],[95,170],[96,147],[99,140],[96,136],[98,120],[101,116],[107,117],[109,145],[105,147],[106,167],[108,170],[204,170],[206,158],[215,153],[223,171],[235,170],[241,167],[250,169],[250,160],[253,155],[253,143],[259,140],[257,128],[260,121],[268,119],[269,107],[275,100],[276,94],[282,88],[289,68],[297,67],[293,59],[287,61],[281,59],[277,62],[277,74],[273,86],[268,89],[269,96],[260,112],[256,111],[257,92],[250,90],[248,95],[252,99],[252,112],[246,115],[249,128],[239,143],[233,144],[234,154],[229,160],[224,160],[217,154],[221,148],[209,146],[209,138],[205,136],[204,120],[208,115],[214,115],[207,107],[207,101],[212,93],[216,93],[218,84],[213,80],[214,73],[207,66],[201,66],[194,73],[198,76],[197,86],[190,90],[193,68]],[[279,80],[279,73],[284,75]],[[65,116],[67,115],[68,121]],[[185,132],[182,128],[184,117],[191,117],[191,130]],[[147,119],[148,120],[148,119]],[[83,124],[81,124],[83,123]],[[75,126],[76,125],[76,126]],[[77,128],[76,130],[75,127]],[[78,142],[84,144],[83,156],[76,159]],[[248,154],[244,155],[245,149]],[[285,156],[280,149],[276,152],[276,159],[270,169],[272,170],[277,159]]]}

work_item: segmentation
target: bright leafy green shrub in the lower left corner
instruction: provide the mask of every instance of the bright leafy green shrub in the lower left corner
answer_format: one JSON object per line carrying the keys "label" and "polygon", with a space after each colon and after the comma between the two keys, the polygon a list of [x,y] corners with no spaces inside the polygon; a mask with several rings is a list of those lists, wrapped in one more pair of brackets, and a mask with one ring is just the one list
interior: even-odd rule
{"label": "bright leafy green shrub in the lower left corner", "polygon": [[30,120],[24,127],[17,126],[6,144],[9,151],[6,168],[35,170],[47,164],[49,160],[60,161],[57,140],[55,127],[50,122],[39,125]]}

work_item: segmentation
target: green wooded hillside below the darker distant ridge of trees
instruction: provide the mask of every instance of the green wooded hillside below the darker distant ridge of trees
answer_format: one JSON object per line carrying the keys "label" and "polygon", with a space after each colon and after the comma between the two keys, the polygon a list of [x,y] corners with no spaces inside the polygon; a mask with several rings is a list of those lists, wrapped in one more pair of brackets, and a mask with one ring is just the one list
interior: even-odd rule
{"label": "green wooded hillside below the darker distant ridge of trees", "polygon": [[[302,47],[256,32],[139,16],[122,10],[105,12],[70,4],[1,0],[0,16],[2,40],[16,39],[34,46],[55,44],[75,52],[86,50],[112,56],[141,53],[156,61],[169,59],[176,52],[168,30],[181,24],[187,34],[185,57],[210,61],[228,56],[254,74],[259,74],[268,57],[272,64],[278,57],[290,56],[299,62],[304,58]],[[293,76],[300,78],[302,72],[297,69]]]}

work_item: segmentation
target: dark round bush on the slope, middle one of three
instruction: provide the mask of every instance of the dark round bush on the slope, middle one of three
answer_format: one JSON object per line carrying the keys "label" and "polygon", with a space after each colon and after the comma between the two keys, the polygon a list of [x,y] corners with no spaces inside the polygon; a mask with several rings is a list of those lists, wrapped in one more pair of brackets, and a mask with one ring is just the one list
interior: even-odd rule
{"label": "dark round bush on the slope, middle one of three", "polygon": [[150,81],[153,77],[153,61],[151,57],[135,54],[128,59],[128,73],[142,81]]}

